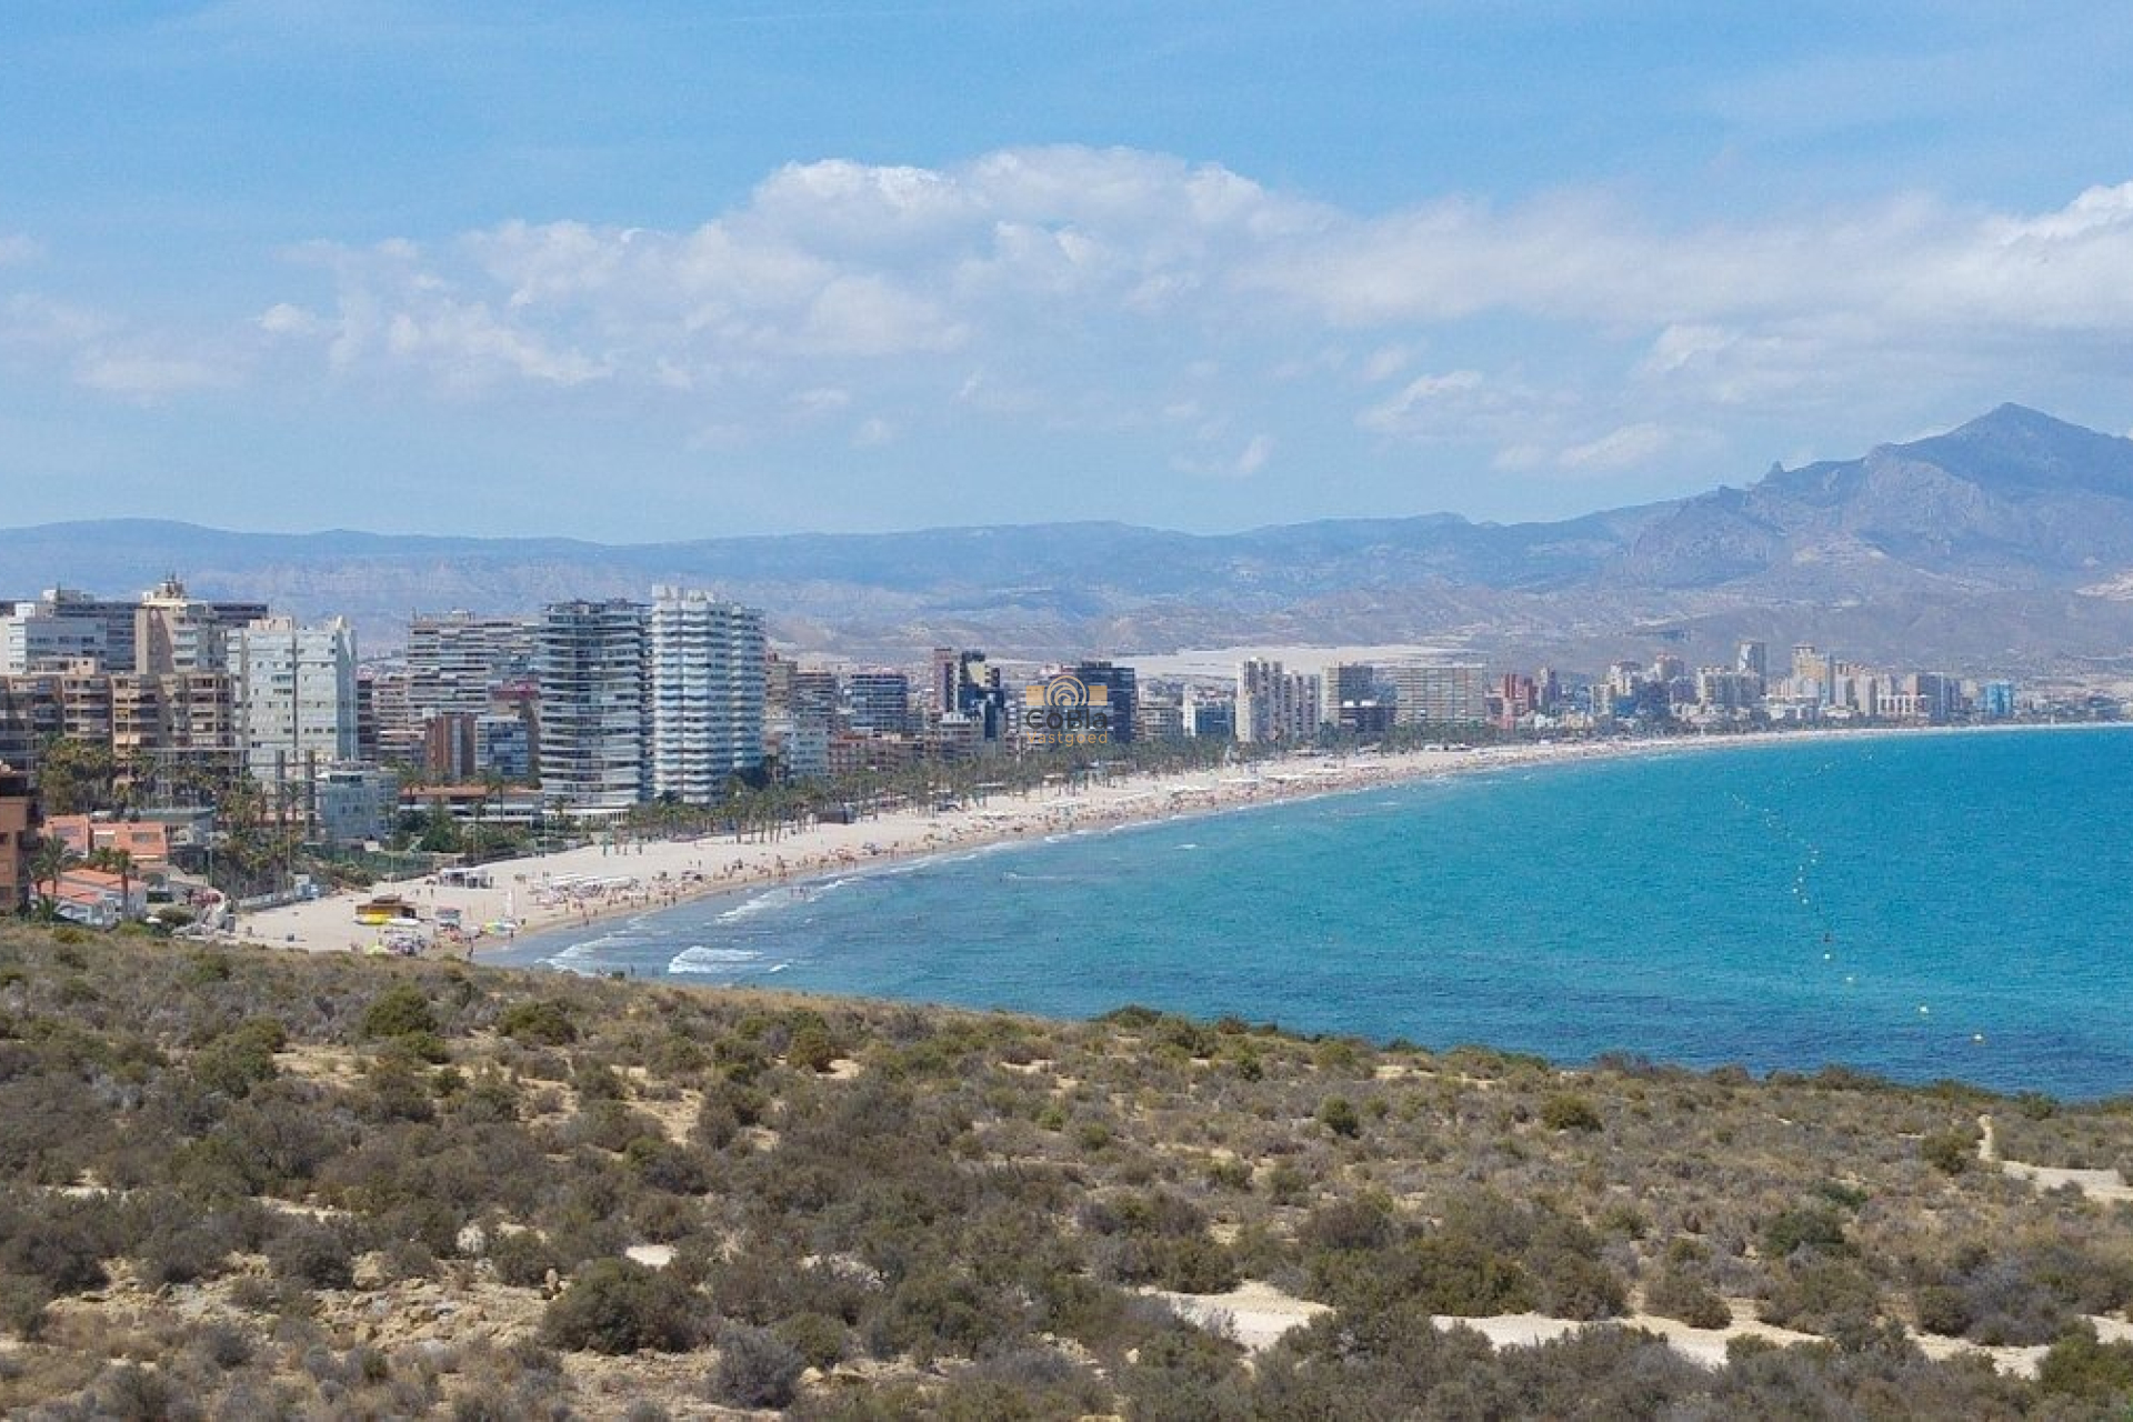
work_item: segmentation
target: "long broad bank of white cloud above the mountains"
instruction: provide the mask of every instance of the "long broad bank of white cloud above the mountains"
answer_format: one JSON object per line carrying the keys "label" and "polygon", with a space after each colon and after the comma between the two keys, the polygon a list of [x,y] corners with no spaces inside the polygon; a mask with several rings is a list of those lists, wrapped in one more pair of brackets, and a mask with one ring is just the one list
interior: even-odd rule
{"label": "long broad bank of white cloud above the mountains", "polygon": [[[2092,373],[2133,341],[2133,183],[2037,213],[1896,194],[1683,226],[1604,194],[1342,211],[1218,164],[1032,147],[789,164],[691,230],[503,222],[301,256],[331,294],[256,326],[346,377],[646,390],[691,426],[717,392],[721,422],[764,429],[832,386],[1148,429],[1182,405],[1263,422],[1271,386],[1342,382],[1382,392],[1367,435],[1489,441],[1506,469],[1600,469],[1621,431],[1958,369]],[[1440,371],[1416,373],[1423,350]],[[1190,392],[1165,375],[1190,371]]]}

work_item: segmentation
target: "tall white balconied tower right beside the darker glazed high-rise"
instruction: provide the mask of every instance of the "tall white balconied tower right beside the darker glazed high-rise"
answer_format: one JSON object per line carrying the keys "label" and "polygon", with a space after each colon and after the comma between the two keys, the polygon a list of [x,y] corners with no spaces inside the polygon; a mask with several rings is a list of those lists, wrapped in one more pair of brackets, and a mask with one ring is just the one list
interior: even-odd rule
{"label": "tall white balconied tower right beside the darker glazed high-rise", "polygon": [[764,763],[764,614],[700,588],[653,588],[651,791],[710,804]]}

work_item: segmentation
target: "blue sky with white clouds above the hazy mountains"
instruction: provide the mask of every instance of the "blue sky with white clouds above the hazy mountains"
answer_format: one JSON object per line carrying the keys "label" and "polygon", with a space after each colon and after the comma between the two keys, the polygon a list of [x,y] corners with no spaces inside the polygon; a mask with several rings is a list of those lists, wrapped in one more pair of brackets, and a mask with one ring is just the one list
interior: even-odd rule
{"label": "blue sky with white clouds above the hazy mountains", "polygon": [[1508,522],[2133,429],[2120,4],[11,0],[0,66],[0,527]]}

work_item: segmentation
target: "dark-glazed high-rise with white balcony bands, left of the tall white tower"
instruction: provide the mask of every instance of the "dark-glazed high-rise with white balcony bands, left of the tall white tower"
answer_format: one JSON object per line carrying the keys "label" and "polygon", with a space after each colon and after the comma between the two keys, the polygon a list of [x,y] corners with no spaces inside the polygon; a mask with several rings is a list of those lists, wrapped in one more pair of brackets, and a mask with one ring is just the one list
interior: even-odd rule
{"label": "dark-glazed high-rise with white balcony bands, left of the tall white tower", "polygon": [[651,793],[648,614],[625,599],[542,612],[540,789],[565,810],[614,814]]}

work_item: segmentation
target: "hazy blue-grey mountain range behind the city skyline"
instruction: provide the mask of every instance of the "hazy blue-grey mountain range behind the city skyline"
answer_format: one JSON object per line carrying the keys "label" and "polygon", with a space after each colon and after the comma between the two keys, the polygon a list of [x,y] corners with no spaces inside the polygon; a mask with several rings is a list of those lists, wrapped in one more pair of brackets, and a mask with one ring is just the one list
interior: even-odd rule
{"label": "hazy blue-grey mountain range behind the city skyline", "polygon": [[96,520],[0,531],[0,593],[132,593],[177,571],[203,595],[343,612],[365,646],[410,612],[715,586],[815,652],[1165,652],[1231,644],[1465,644],[1587,665],[1655,637],[1813,640],[1950,669],[2133,665],[2133,439],[2003,405],[1851,460],[1747,488],[1561,522],[1453,514],[1229,535],[1113,522],[574,539],[228,533]]}

